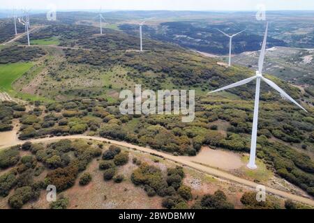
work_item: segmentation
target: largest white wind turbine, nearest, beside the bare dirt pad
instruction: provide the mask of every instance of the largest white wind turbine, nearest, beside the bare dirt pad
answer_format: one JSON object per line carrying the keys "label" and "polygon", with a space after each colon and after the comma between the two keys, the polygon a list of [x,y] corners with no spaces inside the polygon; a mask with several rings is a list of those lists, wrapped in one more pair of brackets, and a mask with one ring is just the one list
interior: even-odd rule
{"label": "largest white wind turbine, nearest, beside the bare dirt pad", "polygon": [[269,86],[271,86],[273,89],[275,89],[279,93],[281,93],[281,95],[284,98],[290,100],[295,105],[297,105],[298,107],[303,109],[305,112],[307,112],[306,109],[304,109],[301,105],[299,105],[299,103],[296,102],[293,98],[291,98],[290,95],[285,93],[285,91],[283,91],[283,89],[281,89],[274,82],[271,82],[271,80],[266,79],[262,75],[262,70],[263,70],[263,66],[264,66],[264,58],[265,58],[265,54],[266,54],[267,33],[268,33],[268,23],[267,23],[267,27],[266,27],[266,31],[265,31],[264,40],[263,40],[263,43],[262,43],[262,50],[260,52],[260,59],[258,61],[258,70],[256,71],[256,75],[254,77],[250,77],[248,79],[244,79],[244,80],[242,80],[240,82],[237,82],[237,83],[234,83],[234,84],[230,84],[229,86],[225,86],[222,89],[218,89],[216,91],[210,92],[210,93],[216,93],[218,91],[224,91],[226,89],[231,89],[231,88],[234,88],[236,86],[241,86],[241,85],[244,85],[244,84],[248,84],[249,82],[252,82],[253,80],[256,79],[255,108],[254,108],[254,117],[253,117],[251,154],[250,154],[250,161],[248,162],[248,165],[247,165],[247,167],[249,169],[257,169],[257,166],[255,164],[255,156],[256,156],[257,123],[258,123],[258,109],[259,109],[259,105],[260,105],[260,82],[261,82],[261,80],[266,82]]}

